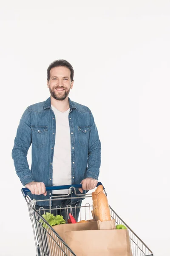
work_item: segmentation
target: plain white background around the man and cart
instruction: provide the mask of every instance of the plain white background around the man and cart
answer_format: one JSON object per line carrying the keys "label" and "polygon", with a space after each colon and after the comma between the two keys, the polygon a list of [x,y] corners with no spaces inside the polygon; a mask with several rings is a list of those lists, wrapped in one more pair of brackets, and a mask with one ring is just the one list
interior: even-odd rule
{"label": "plain white background around the man and cart", "polygon": [[0,255],[36,254],[11,150],[59,58],[74,67],[71,100],[94,114],[110,205],[155,256],[170,255],[170,2],[11,0],[0,20]]}

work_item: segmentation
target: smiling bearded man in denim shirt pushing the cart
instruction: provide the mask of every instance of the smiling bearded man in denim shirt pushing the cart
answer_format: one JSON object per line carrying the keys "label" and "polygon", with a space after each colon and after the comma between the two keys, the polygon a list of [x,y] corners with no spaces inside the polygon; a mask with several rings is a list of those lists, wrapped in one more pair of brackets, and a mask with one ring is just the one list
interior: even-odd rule
{"label": "smiling bearded man in denim shirt pushing the cart", "polygon": [[[94,117],[86,106],[72,102],[68,97],[74,84],[74,70],[68,61],[52,62],[47,70],[47,86],[51,96],[45,101],[29,106],[20,119],[14,140],[12,158],[21,183],[31,191],[37,202],[36,209],[49,209],[51,195],[66,195],[64,191],[45,191],[46,186],[82,183],[76,193],[94,189],[99,176],[101,144]],[[31,170],[27,152],[32,143]],[[61,204],[81,205],[74,189],[71,200],[51,202],[51,207]],[[47,210],[49,212],[49,210]],[[56,212],[52,212],[56,214]],[[60,212],[64,218],[65,211]],[[60,214],[57,212],[57,214]],[[79,210],[74,212],[78,219]]]}

